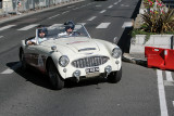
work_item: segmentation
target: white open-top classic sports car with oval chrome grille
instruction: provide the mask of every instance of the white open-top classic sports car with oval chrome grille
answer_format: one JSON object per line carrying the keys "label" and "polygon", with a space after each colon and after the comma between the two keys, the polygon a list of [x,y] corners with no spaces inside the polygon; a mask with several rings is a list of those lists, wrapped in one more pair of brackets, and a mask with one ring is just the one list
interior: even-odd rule
{"label": "white open-top classic sports car with oval chrome grille", "polygon": [[[46,37],[39,41],[36,37],[22,40],[20,61],[22,68],[34,66],[48,75],[54,89],[64,87],[64,79],[105,77],[111,82],[117,82],[122,77],[122,51],[111,42],[94,39],[84,25],[75,25],[71,35],[62,35],[64,25],[45,27]],[[35,44],[27,44],[32,39]]]}

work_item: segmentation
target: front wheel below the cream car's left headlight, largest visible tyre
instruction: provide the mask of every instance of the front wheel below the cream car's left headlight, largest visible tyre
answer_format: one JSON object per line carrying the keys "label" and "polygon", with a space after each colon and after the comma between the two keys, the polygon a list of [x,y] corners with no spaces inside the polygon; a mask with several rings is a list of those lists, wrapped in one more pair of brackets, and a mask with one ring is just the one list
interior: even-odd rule
{"label": "front wheel below the cream car's left headlight, largest visible tyre", "polygon": [[52,61],[49,62],[48,76],[49,76],[49,79],[50,79],[50,82],[53,89],[61,90],[64,87],[64,80],[61,78]]}

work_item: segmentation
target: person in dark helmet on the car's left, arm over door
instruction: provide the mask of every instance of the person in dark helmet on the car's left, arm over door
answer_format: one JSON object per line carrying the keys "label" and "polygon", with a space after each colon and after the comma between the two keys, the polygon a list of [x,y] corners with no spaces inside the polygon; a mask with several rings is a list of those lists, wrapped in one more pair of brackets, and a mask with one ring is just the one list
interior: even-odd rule
{"label": "person in dark helmet on the car's left, arm over door", "polygon": [[[42,41],[47,40],[46,38],[47,35],[47,28],[41,28],[38,29],[38,43],[41,43]],[[37,43],[37,38],[35,37],[34,39],[30,39],[27,41],[27,44],[36,44]]]}

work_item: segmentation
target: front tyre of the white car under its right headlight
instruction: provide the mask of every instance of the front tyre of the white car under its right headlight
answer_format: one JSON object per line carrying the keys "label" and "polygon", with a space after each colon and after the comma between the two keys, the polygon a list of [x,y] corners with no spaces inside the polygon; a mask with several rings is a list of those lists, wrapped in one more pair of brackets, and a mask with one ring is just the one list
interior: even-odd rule
{"label": "front tyre of the white car under its right headlight", "polygon": [[117,70],[117,72],[112,72],[112,73],[108,76],[108,80],[109,80],[110,82],[113,82],[113,83],[119,82],[119,81],[121,80],[121,78],[122,78],[122,67],[121,67],[120,70]]}

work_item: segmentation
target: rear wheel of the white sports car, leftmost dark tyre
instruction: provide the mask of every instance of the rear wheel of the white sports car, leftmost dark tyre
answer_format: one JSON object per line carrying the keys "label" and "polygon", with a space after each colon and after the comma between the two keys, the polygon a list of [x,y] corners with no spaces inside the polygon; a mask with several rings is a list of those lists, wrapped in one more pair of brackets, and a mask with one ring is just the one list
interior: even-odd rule
{"label": "rear wheel of the white sports car, leftmost dark tyre", "polygon": [[22,63],[22,69],[26,70],[27,64],[25,61],[24,51],[22,49],[20,50],[20,62]]}

